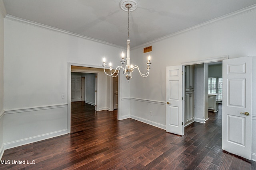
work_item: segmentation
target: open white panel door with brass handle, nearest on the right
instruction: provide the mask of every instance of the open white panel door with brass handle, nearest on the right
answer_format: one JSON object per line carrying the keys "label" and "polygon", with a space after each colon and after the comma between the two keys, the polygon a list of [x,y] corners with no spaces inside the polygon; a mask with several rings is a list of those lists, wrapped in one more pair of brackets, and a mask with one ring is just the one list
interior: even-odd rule
{"label": "open white panel door with brass handle, nearest on the right", "polygon": [[252,58],[223,60],[222,76],[222,149],[251,160]]}

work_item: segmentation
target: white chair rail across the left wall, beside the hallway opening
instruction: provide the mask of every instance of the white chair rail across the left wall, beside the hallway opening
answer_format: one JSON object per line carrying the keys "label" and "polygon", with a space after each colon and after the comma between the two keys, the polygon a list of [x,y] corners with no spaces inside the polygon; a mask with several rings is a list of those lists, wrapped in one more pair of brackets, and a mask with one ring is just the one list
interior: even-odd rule
{"label": "white chair rail across the left wall, beside the hallway opening", "polygon": [[27,111],[38,111],[38,110],[45,110],[45,109],[55,109],[55,108],[61,108],[61,107],[67,107],[67,104],[54,104],[54,105],[46,105],[46,106],[6,109],[4,111],[4,114],[20,113],[20,112],[27,112]]}

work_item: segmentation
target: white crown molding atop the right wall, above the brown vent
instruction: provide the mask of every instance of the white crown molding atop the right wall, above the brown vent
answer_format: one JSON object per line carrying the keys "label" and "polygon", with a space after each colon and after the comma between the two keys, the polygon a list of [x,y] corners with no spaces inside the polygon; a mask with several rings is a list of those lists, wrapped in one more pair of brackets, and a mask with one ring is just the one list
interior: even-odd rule
{"label": "white crown molding atop the right wall, above the brown vent", "polygon": [[147,42],[147,43],[144,43],[144,44],[142,44],[142,45],[138,45],[138,46],[136,46],[136,47],[131,48],[131,50],[137,49],[137,48],[141,48],[141,47],[146,47],[146,46],[149,45],[149,44],[156,43],[156,42],[158,42],[158,41],[161,41],[161,40],[164,40],[164,39],[167,39],[167,38],[170,38],[170,37],[174,37],[174,36],[176,36],[176,35],[179,35],[179,34],[182,34],[182,33],[188,32],[188,31],[192,31],[192,30],[198,29],[198,28],[200,28],[200,27],[204,27],[204,26],[210,25],[210,24],[212,24],[212,23],[216,23],[216,22],[218,22],[218,21],[226,20],[226,19],[232,18],[232,17],[234,17],[234,16],[242,15],[242,14],[251,12],[251,11],[253,11],[253,10],[256,10],[256,4],[254,4],[254,5],[252,5],[252,6],[248,6],[248,7],[246,7],[246,8],[241,9],[241,10],[237,10],[237,11],[232,12],[232,13],[230,13],[230,14],[226,14],[226,15],[224,15],[224,16],[220,16],[220,17],[218,17],[218,18],[214,18],[214,19],[209,20],[209,21],[206,21],[206,22],[204,22],[204,23],[200,23],[200,24],[198,24],[198,25],[196,25],[196,26],[183,29],[183,30],[181,30],[181,31],[178,31],[178,32],[175,32],[175,33],[166,35],[166,36],[164,36],[164,37],[160,37],[160,38],[155,39],[155,40],[153,40],[153,41],[149,41],[149,42]]}

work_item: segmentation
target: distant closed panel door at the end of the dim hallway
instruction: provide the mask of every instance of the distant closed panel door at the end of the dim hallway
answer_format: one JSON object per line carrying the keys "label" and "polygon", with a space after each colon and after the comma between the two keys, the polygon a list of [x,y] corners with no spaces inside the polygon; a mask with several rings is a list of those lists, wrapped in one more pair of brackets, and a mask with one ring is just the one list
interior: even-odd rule
{"label": "distant closed panel door at the end of the dim hallway", "polygon": [[71,78],[71,102],[81,101],[81,77]]}

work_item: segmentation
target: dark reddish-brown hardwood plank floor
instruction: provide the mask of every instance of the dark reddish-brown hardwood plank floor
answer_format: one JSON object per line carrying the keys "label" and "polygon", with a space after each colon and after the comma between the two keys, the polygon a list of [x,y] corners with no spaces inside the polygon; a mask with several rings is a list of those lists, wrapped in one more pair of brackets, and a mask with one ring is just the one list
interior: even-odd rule
{"label": "dark reddish-brown hardwood plank floor", "polygon": [[0,169],[255,170],[256,162],[222,151],[221,112],[188,125],[181,137],[133,119],[118,121],[116,110],[73,102],[70,134],[5,150],[2,161],[10,164]]}

